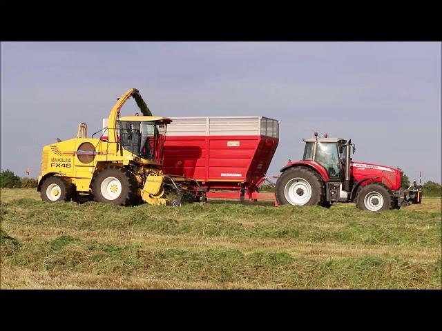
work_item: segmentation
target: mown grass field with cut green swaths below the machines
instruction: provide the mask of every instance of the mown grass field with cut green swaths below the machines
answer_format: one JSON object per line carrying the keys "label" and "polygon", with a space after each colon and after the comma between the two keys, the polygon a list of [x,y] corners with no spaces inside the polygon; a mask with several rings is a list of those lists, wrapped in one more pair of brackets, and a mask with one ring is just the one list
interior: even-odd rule
{"label": "mown grass field with cut green swaths below the machines", "polygon": [[441,289],[441,199],[387,212],[44,203],[2,189],[0,288]]}

